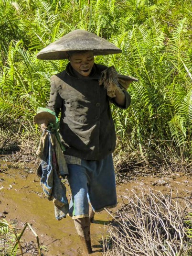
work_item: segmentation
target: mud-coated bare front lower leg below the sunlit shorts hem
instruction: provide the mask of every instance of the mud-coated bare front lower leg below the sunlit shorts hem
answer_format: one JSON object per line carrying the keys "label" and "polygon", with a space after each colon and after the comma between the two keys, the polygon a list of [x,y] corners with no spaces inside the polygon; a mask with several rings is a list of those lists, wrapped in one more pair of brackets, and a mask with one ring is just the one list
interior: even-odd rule
{"label": "mud-coated bare front lower leg below the sunlit shorts hem", "polygon": [[85,256],[93,253],[91,248],[90,219],[89,217],[74,220],[77,234],[80,236]]}

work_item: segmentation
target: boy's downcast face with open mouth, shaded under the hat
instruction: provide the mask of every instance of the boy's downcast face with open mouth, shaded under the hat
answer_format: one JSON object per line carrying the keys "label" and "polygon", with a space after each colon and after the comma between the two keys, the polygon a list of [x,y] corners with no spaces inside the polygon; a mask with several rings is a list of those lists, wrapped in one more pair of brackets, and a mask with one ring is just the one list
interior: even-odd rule
{"label": "boy's downcast face with open mouth, shaded under the hat", "polygon": [[87,77],[94,65],[93,52],[75,53],[68,57],[71,66],[82,76]]}

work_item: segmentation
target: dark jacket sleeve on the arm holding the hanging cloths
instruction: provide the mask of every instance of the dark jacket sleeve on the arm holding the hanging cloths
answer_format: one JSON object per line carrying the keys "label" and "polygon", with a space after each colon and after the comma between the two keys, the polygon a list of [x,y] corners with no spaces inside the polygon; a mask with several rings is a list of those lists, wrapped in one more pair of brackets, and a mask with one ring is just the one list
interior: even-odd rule
{"label": "dark jacket sleeve on the arm holding the hanging cloths", "polygon": [[63,100],[58,93],[58,90],[55,86],[54,76],[51,77],[51,90],[50,97],[47,103],[46,108],[55,112],[55,115],[58,117],[59,112],[61,111]]}

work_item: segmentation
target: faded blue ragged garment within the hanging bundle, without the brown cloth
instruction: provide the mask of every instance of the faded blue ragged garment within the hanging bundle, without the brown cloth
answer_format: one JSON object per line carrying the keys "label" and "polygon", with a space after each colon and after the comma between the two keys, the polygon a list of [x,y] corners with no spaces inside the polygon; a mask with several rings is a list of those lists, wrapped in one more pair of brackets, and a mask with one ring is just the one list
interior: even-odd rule
{"label": "faded blue ragged garment within the hanging bundle, without the brown cloth", "polygon": [[42,178],[41,186],[46,197],[53,200],[55,205],[55,218],[60,220],[66,216],[69,210],[68,200],[66,198],[66,188],[58,175],[58,164],[56,161],[56,154],[51,141],[53,134],[48,132],[46,146],[43,149]]}

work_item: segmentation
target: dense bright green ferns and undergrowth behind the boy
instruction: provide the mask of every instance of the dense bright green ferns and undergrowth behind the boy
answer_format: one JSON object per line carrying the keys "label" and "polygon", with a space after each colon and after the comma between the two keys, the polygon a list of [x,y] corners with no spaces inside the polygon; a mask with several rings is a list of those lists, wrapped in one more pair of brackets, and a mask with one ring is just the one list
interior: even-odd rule
{"label": "dense bright green ferns and undergrowth behind the boy", "polygon": [[[191,0],[0,0],[0,148],[37,135],[50,76],[66,61],[42,61],[43,47],[74,29],[123,50],[97,56],[139,79],[128,110],[113,107],[117,152],[129,158],[189,164],[192,156]],[[21,136],[21,135],[24,136]]]}

